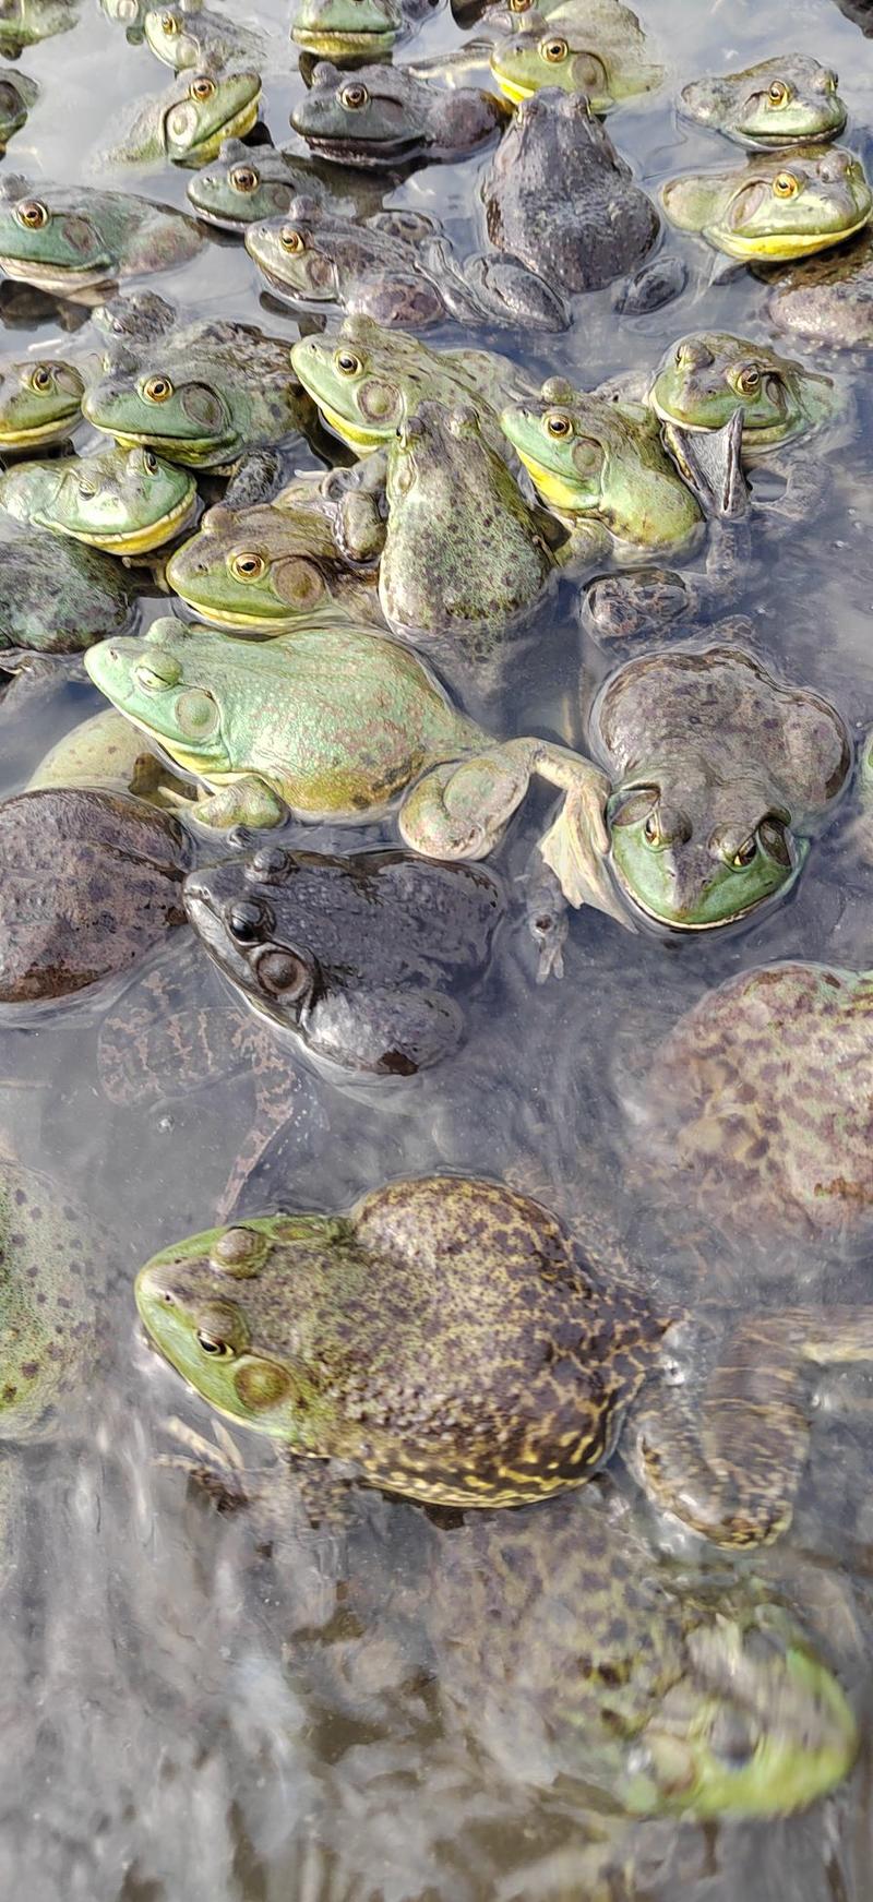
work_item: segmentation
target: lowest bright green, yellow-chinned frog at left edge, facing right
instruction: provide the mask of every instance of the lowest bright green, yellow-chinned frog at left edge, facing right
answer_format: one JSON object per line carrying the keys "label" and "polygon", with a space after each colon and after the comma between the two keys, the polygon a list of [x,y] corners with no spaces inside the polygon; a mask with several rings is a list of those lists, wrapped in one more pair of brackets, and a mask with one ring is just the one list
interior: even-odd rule
{"label": "lowest bright green, yellow-chinned frog at left edge, facing right", "polygon": [[145,555],[188,527],[194,476],[150,449],[25,462],[0,476],[0,508],[112,555]]}

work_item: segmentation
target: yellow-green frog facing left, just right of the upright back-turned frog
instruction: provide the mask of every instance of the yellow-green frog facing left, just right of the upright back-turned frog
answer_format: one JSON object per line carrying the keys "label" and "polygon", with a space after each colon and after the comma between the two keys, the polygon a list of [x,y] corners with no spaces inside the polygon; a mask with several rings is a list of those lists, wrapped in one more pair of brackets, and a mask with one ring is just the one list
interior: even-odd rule
{"label": "yellow-green frog facing left, just right of the upright back-turned frog", "polygon": [[683,548],[700,529],[700,508],[647,409],[552,377],[534,407],[504,409],[500,424],[542,500],[561,515],[637,548]]}

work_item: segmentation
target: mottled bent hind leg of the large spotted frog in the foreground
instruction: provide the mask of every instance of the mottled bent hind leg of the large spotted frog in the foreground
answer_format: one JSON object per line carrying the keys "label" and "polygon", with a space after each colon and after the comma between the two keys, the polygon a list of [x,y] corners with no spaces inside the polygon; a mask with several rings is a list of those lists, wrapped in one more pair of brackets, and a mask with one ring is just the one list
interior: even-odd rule
{"label": "mottled bent hind leg of the large spotted frog in the foreground", "polygon": [[755,1546],[791,1524],[808,1457],[808,1366],[873,1360],[873,1307],[787,1309],[728,1337],[700,1415],[675,1388],[637,1407],[630,1465],[654,1503],[721,1546]]}

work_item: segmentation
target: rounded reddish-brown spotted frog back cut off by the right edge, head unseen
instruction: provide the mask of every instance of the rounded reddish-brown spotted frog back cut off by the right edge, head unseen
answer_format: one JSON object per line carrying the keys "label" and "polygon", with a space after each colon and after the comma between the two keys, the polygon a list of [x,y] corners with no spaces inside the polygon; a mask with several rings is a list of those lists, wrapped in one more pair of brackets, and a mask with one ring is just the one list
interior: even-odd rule
{"label": "rounded reddish-brown spotted frog back cut off by the right edge, head unseen", "polygon": [[647,1166],[740,1234],[867,1231],[873,974],[768,964],[708,991],[660,1046]]}

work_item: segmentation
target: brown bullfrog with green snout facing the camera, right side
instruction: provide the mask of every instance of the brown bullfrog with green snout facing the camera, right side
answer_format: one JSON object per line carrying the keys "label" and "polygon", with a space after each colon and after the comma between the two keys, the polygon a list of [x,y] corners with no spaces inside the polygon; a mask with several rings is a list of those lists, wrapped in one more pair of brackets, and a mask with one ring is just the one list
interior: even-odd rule
{"label": "brown bullfrog with green snout facing the camera, right side", "polygon": [[[580,829],[576,902],[588,896],[620,922],[630,905],[681,932],[736,922],[789,892],[852,770],[837,708],[719,643],[630,660],[601,687],[590,740],[609,774],[611,844],[607,864]],[[546,860],[567,894],[571,867],[561,875],[555,854]]]}

